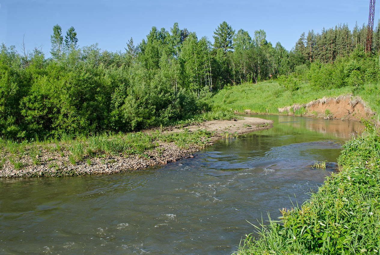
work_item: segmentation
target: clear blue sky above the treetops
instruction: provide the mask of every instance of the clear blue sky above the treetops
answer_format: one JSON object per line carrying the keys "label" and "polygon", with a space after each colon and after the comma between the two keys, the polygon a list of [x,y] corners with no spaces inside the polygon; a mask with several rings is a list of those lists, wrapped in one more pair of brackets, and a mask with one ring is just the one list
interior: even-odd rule
{"label": "clear blue sky above the treetops", "polygon": [[[374,27],[379,12],[376,7]],[[302,32],[340,23],[352,30],[356,21],[367,24],[368,13],[369,0],[0,0],[0,43],[21,52],[25,35],[28,50],[43,45],[49,55],[52,27],[59,24],[63,35],[75,28],[79,47],[97,42],[103,50],[124,51],[131,37],[138,44],[152,26],[170,30],[174,22],[214,42],[213,32],[225,20],[251,36],[263,29],[273,45],[279,41],[291,50]]]}

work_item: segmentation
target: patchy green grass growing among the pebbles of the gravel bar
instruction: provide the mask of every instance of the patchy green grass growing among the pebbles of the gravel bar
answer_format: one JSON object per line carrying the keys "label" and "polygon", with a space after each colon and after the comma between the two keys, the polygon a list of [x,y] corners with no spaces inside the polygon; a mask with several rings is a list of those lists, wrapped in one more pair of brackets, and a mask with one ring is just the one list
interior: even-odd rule
{"label": "patchy green grass growing among the pebbles of the gravel bar", "polygon": [[[148,158],[147,151],[156,148],[159,145],[159,141],[174,142],[179,148],[185,149],[190,148],[190,146],[204,148],[209,145],[209,137],[211,135],[211,132],[201,129],[190,132],[184,128],[180,132],[168,134],[165,132],[161,133],[157,129],[150,133],[104,133],[89,137],[76,137],[72,140],[70,140],[71,136],[65,134],[63,135],[63,140],[51,140],[51,143],[37,140],[14,142],[0,139],[0,145],[3,145],[3,154],[11,154],[10,161],[14,165],[14,168],[20,169],[24,167],[20,160],[24,155],[30,156],[34,165],[41,164],[40,157],[44,150],[58,153],[62,157],[64,157],[66,152],[69,155],[68,161],[73,165],[84,160],[90,165],[93,157],[138,155],[139,157]],[[38,157],[36,157],[37,155]],[[47,161],[52,160],[53,158],[47,159]],[[3,159],[0,167],[2,167],[4,162],[5,159]],[[48,167],[54,166],[49,164]]]}

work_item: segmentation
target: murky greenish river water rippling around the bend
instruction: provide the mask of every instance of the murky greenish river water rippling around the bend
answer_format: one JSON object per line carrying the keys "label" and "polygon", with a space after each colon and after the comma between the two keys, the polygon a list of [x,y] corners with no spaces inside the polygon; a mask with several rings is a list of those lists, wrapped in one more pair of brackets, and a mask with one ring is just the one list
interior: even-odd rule
{"label": "murky greenish river water rippling around the bend", "polygon": [[[257,115],[255,115],[257,116]],[[257,220],[299,205],[334,171],[358,122],[258,116],[274,128],[160,167],[0,179],[0,254],[231,254]]]}

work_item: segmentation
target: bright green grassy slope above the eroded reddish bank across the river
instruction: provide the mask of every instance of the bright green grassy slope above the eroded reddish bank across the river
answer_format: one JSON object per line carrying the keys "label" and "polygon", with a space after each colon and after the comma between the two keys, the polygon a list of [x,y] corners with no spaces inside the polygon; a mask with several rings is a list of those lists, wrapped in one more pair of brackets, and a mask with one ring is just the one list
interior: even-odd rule
{"label": "bright green grassy slope above the eroded reddish bank across the river", "polygon": [[[233,113],[235,110],[244,113],[247,109],[252,113],[279,114],[278,108],[293,104],[306,104],[319,98],[337,97],[344,94],[360,96],[370,109],[380,113],[380,84],[364,84],[359,87],[347,86],[315,91],[306,82],[301,83],[298,90],[288,91],[275,81],[244,83],[223,88],[210,99],[210,103],[213,112],[224,112],[224,114],[226,112]],[[306,110],[301,107],[292,113],[303,115],[304,112]]]}

